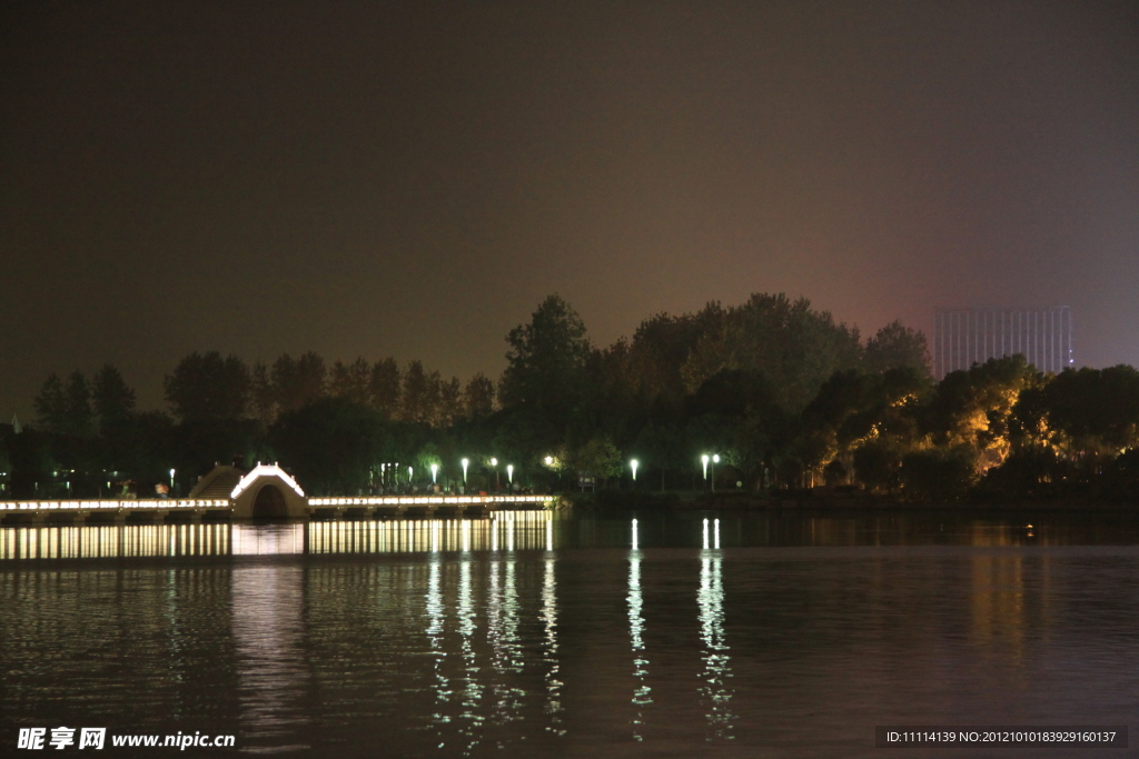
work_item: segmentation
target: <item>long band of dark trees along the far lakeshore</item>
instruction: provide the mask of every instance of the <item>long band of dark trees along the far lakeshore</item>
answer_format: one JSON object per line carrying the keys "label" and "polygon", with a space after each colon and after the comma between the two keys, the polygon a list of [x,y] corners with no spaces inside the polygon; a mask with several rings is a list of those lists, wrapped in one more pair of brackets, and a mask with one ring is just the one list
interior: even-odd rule
{"label": "long band of dark trees along the far lakeshore", "polygon": [[[757,294],[656,314],[598,347],[560,297],[507,336],[497,381],[419,361],[329,368],[316,353],[252,368],[191,353],[165,377],[169,413],[138,411],[110,365],[49,377],[38,419],[7,431],[6,490],[90,496],[131,480],[186,492],[215,462],[279,461],[314,494],[492,489],[861,488],[915,502],[1139,498],[1139,372],[1046,374],[1023,356],[935,381],[925,336],[863,339],[805,298]],[[0,451],[0,453],[2,453]],[[460,461],[468,461],[464,475]],[[410,468],[410,471],[409,471]],[[464,481],[466,476],[466,481]]]}

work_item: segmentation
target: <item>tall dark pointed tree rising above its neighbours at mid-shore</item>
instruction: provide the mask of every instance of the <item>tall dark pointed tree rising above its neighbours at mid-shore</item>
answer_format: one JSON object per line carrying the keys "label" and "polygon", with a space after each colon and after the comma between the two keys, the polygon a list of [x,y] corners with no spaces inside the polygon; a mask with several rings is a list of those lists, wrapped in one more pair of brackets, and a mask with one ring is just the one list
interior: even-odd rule
{"label": "tall dark pointed tree rising above its neighbours at mid-shore", "polygon": [[560,432],[581,396],[590,344],[585,323],[557,295],[546,298],[507,336],[507,368],[499,388],[503,406],[519,406]]}

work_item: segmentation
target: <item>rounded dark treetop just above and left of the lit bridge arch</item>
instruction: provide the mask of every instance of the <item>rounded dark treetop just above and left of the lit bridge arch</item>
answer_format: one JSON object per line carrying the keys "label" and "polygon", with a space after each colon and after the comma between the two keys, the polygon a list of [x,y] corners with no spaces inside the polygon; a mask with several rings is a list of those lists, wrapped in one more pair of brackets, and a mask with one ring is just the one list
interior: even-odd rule
{"label": "rounded dark treetop just above and left of the lit bridge arch", "polygon": [[249,370],[237,356],[197,350],[182,358],[163,382],[166,401],[183,422],[240,419],[249,398]]}

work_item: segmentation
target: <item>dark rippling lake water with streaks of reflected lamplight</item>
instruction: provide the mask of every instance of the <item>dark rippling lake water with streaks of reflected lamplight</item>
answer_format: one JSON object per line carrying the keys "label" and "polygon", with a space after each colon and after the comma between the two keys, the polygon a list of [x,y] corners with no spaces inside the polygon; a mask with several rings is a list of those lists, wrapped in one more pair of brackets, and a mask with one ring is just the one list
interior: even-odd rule
{"label": "dark rippling lake water with streaks of reflected lamplight", "polygon": [[874,746],[1128,725],[1137,602],[1139,519],[1111,512],[8,527],[0,754],[90,726],[313,757],[1132,756]]}

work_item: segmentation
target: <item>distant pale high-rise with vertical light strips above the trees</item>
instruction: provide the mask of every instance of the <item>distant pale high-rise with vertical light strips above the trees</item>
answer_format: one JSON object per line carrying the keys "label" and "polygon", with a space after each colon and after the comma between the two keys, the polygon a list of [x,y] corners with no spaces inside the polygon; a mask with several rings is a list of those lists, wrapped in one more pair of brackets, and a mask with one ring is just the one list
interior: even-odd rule
{"label": "distant pale high-rise with vertical light strips above the trees", "polygon": [[1072,357],[1072,308],[937,308],[933,316],[933,370],[941,379],[990,358],[1024,354],[1030,364],[1059,372]]}

